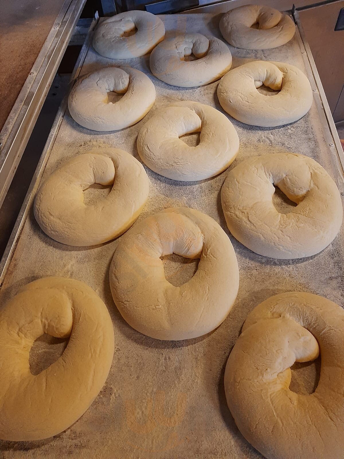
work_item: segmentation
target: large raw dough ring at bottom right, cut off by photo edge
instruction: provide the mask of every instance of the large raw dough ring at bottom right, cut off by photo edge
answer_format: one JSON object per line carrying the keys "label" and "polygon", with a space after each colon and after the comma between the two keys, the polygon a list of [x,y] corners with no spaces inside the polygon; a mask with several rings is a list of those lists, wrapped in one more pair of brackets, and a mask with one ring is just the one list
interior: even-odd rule
{"label": "large raw dough ring at bottom right, cut off by photo edge", "polygon": [[[314,360],[311,395],[290,391],[290,366]],[[344,311],[311,293],[268,298],[245,320],[225,371],[228,407],[240,432],[267,459],[343,457]]]}

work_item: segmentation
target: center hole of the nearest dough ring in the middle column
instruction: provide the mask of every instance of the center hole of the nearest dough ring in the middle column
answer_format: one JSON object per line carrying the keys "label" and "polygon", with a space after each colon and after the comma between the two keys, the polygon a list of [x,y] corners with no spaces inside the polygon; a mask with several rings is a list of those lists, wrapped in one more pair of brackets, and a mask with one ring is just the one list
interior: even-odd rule
{"label": "center hole of the nearest dough ring in the middle column", "polygon": [[180,287],[192,279],[200,261],[199,258],[185,258],[176,253],[161,257],[161,260],[166,280],[175,287]]}

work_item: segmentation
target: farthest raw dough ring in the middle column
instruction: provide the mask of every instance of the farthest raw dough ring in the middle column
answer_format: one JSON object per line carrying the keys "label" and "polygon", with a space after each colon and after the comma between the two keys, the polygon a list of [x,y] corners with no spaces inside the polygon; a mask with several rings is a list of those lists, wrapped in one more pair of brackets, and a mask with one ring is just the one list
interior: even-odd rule
{"label": "farthest raw dough ring in the middle column", "polygon": [[[198,59],[185,61],[194,54]],[[173,86],[203,86],[221,78],[232,66],[232,55],[223,41],[201,34],[183,34],[165,39],[150,55],[150,70]]]}

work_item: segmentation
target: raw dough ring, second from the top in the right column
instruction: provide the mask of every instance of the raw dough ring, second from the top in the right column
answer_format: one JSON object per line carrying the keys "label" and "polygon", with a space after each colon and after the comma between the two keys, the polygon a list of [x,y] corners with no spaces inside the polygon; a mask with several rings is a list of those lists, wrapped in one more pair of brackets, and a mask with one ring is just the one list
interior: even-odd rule
{"label": "raw dough ring, second from the top in the right column", "polygon": [[[264,95],[261,85],[278,94]],[[222,77],[217,97],[227,113],[252,126],[283,126],[302,118],[311,108],[313,93],[304,73],[283,62],[254,61]]]}

